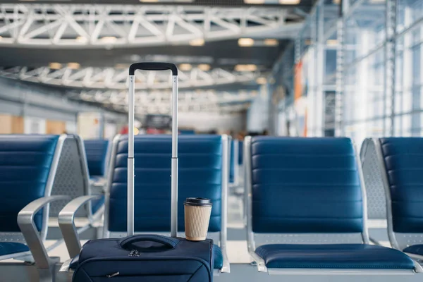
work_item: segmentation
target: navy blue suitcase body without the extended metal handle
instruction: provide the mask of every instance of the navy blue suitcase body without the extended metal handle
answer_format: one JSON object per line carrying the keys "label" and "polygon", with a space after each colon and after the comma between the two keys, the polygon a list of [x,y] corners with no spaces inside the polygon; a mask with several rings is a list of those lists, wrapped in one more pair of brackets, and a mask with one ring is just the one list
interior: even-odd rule
{"label": "navy blue suitcase body without the extended metal handle", "polygon": [[161,235],[90,240],[82,247],[73,281],[212,282],[213,248],[213,240]]}

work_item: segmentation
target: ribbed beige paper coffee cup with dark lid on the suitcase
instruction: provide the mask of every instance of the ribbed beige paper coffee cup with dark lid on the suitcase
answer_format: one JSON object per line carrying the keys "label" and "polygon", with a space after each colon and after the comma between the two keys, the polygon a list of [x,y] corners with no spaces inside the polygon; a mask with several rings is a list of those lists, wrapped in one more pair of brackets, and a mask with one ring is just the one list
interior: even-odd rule
{"label": "ribbed beige paper coffee cup with dark lid on the suitcase", "polygon": [[185,208],[185,238],[191,241],[206,240],[209,230],[212,201],[204,198],[187,198]]}

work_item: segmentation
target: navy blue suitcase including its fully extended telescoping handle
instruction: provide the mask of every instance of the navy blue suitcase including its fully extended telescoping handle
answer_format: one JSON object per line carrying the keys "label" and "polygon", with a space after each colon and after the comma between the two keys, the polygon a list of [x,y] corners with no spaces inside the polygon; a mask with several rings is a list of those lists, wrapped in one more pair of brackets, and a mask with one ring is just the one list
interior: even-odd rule
{"label": "navy blue suitcase including its fully extended telescoping handle", "polygon": [[[171,237],[134,234],[134,95],[137,69],[172,71]],[[212,282],[213,240],[178,235],[178,68],[173,63],[133,63],[128,100],[128,237],[90,240],[82,247],[73,282]]]}

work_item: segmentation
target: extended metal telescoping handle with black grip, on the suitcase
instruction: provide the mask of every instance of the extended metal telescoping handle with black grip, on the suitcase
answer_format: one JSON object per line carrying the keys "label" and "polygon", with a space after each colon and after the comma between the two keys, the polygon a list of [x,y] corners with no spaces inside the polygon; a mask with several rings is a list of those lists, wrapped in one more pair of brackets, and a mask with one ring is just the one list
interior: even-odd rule
{"label": "extended metal telescoping handle with black grip, on the suitcase", "polygon": [[129,67],[128,101],[128,235],[134,234],[135,71],[172,71],[171,236],[178,235],[178,68],[173,63],[133,63]]}

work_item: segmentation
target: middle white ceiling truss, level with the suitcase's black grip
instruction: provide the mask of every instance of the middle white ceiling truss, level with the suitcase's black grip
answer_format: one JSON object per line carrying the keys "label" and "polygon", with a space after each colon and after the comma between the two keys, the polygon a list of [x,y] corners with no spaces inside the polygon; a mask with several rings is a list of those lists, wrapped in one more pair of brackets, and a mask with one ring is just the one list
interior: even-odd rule
{"label": "middle white ceiling truss, level with the suitcase's black grip", "polygon": [[[213,87],[237,82],[254,82],[260,75],[257,71],[235,72],[222,68],[202,71],[192,68],[190,71],[178,71],[179,88]],[[118,68],[78,68],[64,67],[53,70],[49,67],[0,68],[0,76],[67,87],[85,89],[128,89],[128,69]],[[137,71],[135,73],[135,89],[167,89],[172,87],[171,73],[168,71]]]}

